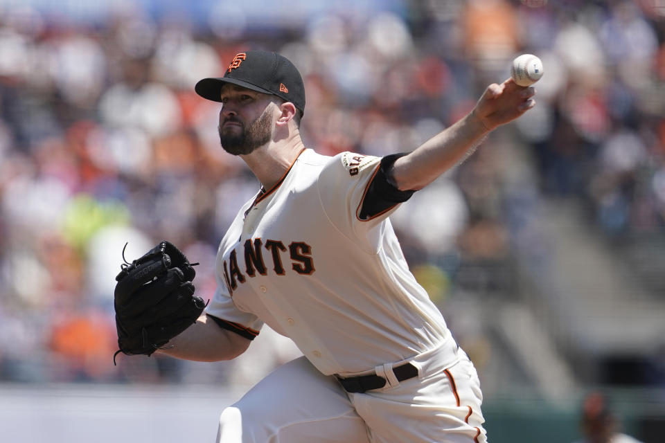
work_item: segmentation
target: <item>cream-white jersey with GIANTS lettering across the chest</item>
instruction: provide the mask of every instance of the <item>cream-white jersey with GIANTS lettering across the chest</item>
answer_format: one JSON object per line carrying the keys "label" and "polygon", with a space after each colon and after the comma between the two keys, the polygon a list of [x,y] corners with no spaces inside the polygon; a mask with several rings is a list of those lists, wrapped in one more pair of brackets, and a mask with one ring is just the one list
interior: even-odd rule
{"label": "cream-white jersey with GIANTS lettering across the chest", "polygon": [[274,188],[240,209],[222,239],[206,313],[247,337],[269,325],[323,374],[456,349],[409,271],[388,218],[396,206],[360,219],[379,166],[378,157],[303,150]]}

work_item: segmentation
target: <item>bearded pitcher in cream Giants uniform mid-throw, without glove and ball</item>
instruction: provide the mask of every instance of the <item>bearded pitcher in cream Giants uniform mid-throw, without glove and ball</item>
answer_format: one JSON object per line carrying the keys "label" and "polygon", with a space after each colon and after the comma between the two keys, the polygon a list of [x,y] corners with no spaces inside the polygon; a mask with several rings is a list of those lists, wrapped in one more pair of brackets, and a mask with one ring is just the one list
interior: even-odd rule
{"label": "bearded pitcher in cream Giants uniform mid-throw, without glove and ball", "polygon": [[383,158],[305,147],[303,80],[276,53],[240,53],[195,90],[220,102],[222,148],[262,186],[220,242],[202,315],[166,346],[141,345],[227,360],[267,324],[304,354],[222,411],[218,442],[486,442],[476,370],[409,271],[389,215],[533,107],[533,87],[490,84],[470,114]]}

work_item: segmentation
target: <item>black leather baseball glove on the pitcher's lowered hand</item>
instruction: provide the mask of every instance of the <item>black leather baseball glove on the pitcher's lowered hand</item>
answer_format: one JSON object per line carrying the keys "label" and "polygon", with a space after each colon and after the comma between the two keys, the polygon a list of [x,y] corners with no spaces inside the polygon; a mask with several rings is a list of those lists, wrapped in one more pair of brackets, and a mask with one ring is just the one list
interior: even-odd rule
{"label": "black leather baseball glove on the pitcher's lowered hand", "polygon": [[150,356],[199,318],[206,303],[194,296],[196,264],[166,241],[121,264],[114,293],[120,348],[114,364],[120,352]]}

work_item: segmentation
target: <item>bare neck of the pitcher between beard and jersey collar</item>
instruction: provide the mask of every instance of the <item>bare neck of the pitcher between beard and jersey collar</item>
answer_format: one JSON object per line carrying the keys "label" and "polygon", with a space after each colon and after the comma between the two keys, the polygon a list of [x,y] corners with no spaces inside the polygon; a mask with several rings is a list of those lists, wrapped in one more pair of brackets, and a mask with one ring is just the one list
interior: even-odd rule
{"label": "bare neck of the pitcher between beard and jersey collar", "polygon": [[241,157],[263,187],[269,190],[284,177],[304,147],[300,136],[296,136],[268,143],[265,147]]}

